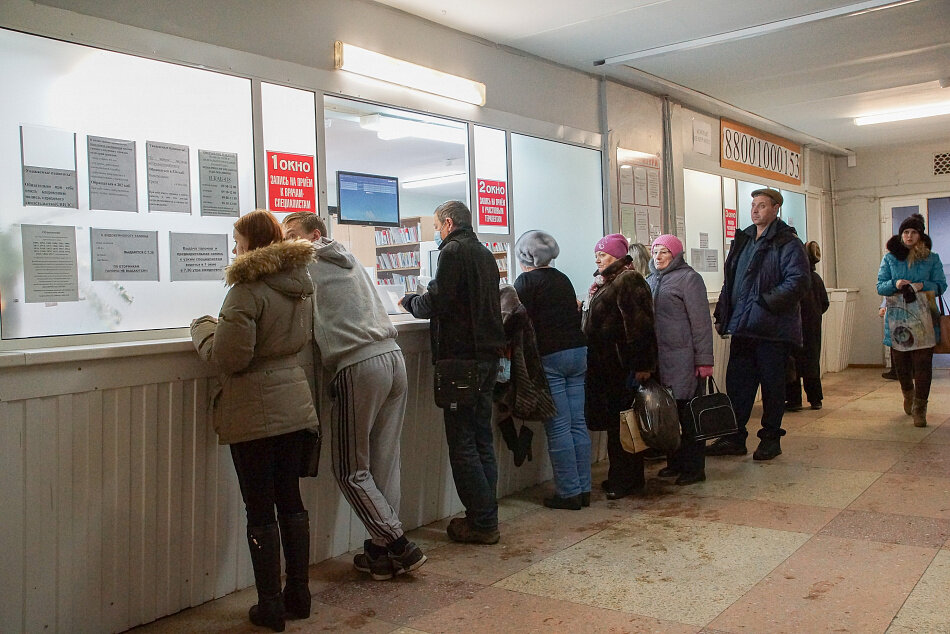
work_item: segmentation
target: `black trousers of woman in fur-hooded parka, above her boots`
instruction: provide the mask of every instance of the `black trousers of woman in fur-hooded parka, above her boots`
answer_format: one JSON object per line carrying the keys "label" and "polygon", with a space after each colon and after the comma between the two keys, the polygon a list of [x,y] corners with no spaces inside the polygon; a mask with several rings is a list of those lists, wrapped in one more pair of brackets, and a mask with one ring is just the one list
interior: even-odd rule
{"label": "black trousers of woman in fur-hooded parka, above her boots", "polygon": [[281,515],[306,509],[300,499],[300,470],[306,434],[300,430],[231,445],[248,526],[265,526]]}

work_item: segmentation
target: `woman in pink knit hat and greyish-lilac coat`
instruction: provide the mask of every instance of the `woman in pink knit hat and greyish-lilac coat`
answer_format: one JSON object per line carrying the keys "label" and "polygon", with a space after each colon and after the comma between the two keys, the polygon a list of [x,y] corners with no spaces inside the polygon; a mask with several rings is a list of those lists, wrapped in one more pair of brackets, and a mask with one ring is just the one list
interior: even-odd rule
{"label": "woman in pink knit hat and greyish-lilac coat", "polygon": [[679,406],[682,441],[659,476],[676,484],[706,479],[705,442],[690,432],[689,400],[699,381],[712,376],[712,320],[702,276],[683,259],[683,243],[664,234],[653,241],[647,283],[653,292],[660,381],[673,390]]}

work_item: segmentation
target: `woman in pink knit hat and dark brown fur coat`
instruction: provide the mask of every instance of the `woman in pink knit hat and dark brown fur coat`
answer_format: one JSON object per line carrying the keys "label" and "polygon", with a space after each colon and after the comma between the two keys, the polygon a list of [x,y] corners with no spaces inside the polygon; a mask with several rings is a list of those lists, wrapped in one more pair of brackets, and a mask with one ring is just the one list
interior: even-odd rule
{"label": "woman in pink knit hat and dark brown fur coat", "polygon": [[607,432],[610,467],[602,487],[607,499],[641,492],[643,454],[620,444],[620,412],[633,402],[636,381],[656,372],[653,300],[643,276],[630,267],[627,239],[604,236],[594,246],[595,282],[585,305],[587,427]]}

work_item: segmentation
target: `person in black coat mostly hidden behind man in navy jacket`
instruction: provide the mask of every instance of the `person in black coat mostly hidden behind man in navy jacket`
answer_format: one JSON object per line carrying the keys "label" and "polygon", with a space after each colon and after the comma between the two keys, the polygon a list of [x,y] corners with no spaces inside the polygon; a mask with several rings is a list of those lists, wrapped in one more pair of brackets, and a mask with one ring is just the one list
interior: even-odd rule
{"label": "person in black coat mostly hidden behind man in navy jacket", "polygon": [[821,316],[828,310],[828,291],[815,271],[821,261],[821,247],[812,240],[805,245],[811,264],[811,289],[802,296],[802,347],[793,354],[795,378],[785,386],[785,410],[797,412],[802,408],[802,382],[805,396],[812,409],[821,409]]}

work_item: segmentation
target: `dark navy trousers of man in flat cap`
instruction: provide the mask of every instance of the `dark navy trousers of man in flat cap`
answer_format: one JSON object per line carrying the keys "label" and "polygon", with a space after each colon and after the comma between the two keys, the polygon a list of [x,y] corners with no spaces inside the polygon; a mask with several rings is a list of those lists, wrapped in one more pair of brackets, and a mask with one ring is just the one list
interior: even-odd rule
{"label": "dark navy trousers of man in flat cap", "polygon": [[744,445],[749,436],[746,425],[752,414],[755,393],[762,386],[762,439],[778,439],[785,435],[782,415],[785,413],[785,363],[788,344],[748,337],[733,337],[726,368],[726,393],[736,412],[739,432],[732,437]]}

